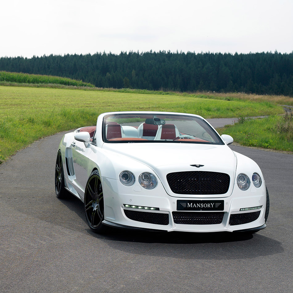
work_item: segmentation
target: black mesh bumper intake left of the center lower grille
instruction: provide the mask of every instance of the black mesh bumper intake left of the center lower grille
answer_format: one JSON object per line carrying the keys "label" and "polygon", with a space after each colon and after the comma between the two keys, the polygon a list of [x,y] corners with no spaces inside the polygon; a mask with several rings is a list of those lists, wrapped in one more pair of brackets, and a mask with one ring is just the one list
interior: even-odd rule
{"label": "black mesh bumper intake left of the center lower grille", "polygon": [[157,225],[168,225],[169,224],[169,214],[146,212],[146,211],[130,211],[124,210],[125,216],[130,220],[157,224]]}

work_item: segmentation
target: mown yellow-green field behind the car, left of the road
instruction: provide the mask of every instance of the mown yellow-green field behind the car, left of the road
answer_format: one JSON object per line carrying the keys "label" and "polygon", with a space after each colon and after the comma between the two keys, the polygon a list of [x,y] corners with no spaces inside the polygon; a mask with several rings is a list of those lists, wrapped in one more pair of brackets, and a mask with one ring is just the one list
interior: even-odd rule
{"label": "mown yellow-green field behind the car, left of the road", "polygon": [[198,98],[180,94],[0,86],[0,163],[41,137],[95,125],[97,116],[103,112],[130,110],[183,112],[204,118],[284,113],[274,101],[227,99],[227,95]]}

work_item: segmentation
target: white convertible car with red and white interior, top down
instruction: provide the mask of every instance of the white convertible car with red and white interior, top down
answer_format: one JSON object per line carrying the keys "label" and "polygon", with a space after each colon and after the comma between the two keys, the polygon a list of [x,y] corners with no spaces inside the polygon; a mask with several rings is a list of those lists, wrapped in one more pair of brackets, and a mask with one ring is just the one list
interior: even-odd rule
{"label": "white convertible car with red and white interior, top down", "polygon": [[198,115],[111,112],[62,138],[56,195],[84,202],[94,232],[257,232],[269,195],[258,165]]}

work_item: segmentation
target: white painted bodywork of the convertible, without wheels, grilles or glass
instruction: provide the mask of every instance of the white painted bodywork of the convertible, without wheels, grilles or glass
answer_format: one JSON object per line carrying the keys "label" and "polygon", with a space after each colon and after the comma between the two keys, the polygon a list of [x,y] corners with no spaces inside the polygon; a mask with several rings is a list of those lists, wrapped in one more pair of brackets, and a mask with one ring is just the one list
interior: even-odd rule
{"label": "white painted bodywork of the convertible, without wheels, grilles or glass", "polygon": [[[98,170],[104,194],[104,224],[114,227],[145,228],[168,232],[233,232],[265,227],[266,185],[260,168],[253,160],[233,152],[226,144],[104,142],[102,137],[103,118],[109,114],[120,113],[104,113],[98,117],[94,137],[96,145],[92,142],[76,140],[74,136],[79,132],[76,130],[65,134],[58,148],[62,154],[65,187],[81,201],[84,201],[85,186],[90,174],[93,170]],[[153,114],[153,112],[144,113]],[[164,112],[155,113],[162,114]],[[191,114],[184,115],[200,117]],[[212,126],[210,125],[210,127]],[[135,137],[135,131],[133,129],[132,131]],[[199,168],[191,166],[194,164],[202,166]],[[132,186],[125,186],[119,180],[119,174],[125,170],[132,172],[136,178]],[[228,191],[225,194],[209,195],[172,192],[167,182],[167,174],[188,171],[228,174],[230,177]],[[156,176],[158,184],[154,189],[147,190],[139,184],[137,178],[142,172],[152,173]],[[256,188],[251,183],[248,190],[240,190],[237,186],[237,175],[246,174],[251,178],[254,173],[259,174],[262,180],[261,186]],[[193,199],[224,200],[224,210],[221,211],[224,212],[222,222],[220,224],[175,224],[172,212],[178,212],[177,200]],[[138,211],[138,209],[124,205],[157,207],[159,211],[139,210],[139,212],[167,214],[168,224],[132,220],[126,216],[125,210]],[[253,211],[240,212],[241,208],[258,206],[262,207]],[[232,214],[246,214],[255,211],[260,211],[256,220],[246,224],[229,225],[229,218]]]}

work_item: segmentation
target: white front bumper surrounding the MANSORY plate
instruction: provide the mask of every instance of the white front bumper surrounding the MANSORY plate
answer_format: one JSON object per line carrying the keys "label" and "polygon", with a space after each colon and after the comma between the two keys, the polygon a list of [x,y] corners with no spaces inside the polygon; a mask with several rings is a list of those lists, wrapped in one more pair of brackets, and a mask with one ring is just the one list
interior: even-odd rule
{"label": "white front bumper surrounding the MANSORY plate", "polygon": [[[177,199],[169,196],[161,183],[153,190],[141,186],[123,186],[118,180],[102,178],[105,220],[104,224],[116,228],[182,232],[236,232],[261,230],[265,225],[265,186],[242,191],[234,188],[224,200],[223,211],[177,211]],[[190,200],[191,198],[186,198]],[[194,198],[198,199],[198,198]],[[201,198],[202,199],[202,198]],[[216,198],[204,198],[215,200]],[[125,205],[127,207],[125,207]],[[131,206],[155,207],[146,210]],[[259,207],[249,211],[241,208]]]}

